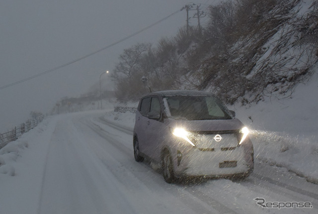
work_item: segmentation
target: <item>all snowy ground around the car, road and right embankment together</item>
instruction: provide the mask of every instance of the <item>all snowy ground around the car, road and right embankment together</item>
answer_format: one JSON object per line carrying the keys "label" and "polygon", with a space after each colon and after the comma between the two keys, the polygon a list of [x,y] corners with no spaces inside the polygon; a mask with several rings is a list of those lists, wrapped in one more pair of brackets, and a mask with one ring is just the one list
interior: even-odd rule
{"label": "all snowy ground around the car, road and right embankment together", "polygon": [[[134,160],[134,113],[109,106],[47,117],[0,150],[0,213],[317,214],[314,78],[293,99],[230,107],[252,130],[255,148],[255,170],[240,182],[165,183],[151,163]],[[262,208],[255,198],[313,208]]]}

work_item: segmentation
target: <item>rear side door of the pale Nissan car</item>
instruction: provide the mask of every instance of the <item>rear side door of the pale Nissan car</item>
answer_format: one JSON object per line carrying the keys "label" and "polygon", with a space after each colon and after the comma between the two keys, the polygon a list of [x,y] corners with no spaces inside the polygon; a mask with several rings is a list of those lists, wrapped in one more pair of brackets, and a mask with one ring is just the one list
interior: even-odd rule
{"label": "rear side door of the pale Nissan car", "polygon": [[139,151],[148,154],[149,146],[147,144],[147,128],[148,128],[148,117],[147,114],[150,110],[151,97],[146,97],[141,100],[138,114],[136,117],[136,123],[138,124],[136,133],[139,142]]}

